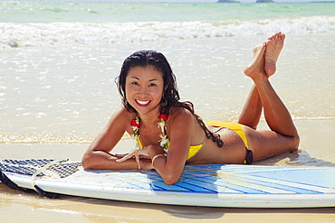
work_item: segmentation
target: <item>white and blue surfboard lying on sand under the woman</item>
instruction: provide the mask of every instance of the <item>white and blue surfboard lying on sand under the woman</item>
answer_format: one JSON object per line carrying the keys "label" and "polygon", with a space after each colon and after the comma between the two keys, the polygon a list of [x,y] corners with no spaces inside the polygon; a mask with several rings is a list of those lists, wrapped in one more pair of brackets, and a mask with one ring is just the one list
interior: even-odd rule
{"label": "white and blue surfboard lying on sand under the woman", "polygon": [[3,160],[1,181],[44,195],[225,208],[335,207],[335,168],[186,165],[167,185],[155,171],[85,171],[80,162]]}

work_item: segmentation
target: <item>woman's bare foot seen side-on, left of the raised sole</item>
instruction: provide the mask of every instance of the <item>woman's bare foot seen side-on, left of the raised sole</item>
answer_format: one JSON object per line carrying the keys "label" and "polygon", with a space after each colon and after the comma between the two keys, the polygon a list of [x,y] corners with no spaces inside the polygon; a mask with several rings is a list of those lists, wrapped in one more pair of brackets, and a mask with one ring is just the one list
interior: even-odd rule
{"label": "woman's bare foot seen side-on, left of the raised sole", "polygon": [[260,75],[266,77],[264,71],[264,52],[265,42],[254,47],[254,60],[245,69],[244,74],[252,79],[259,77]]}

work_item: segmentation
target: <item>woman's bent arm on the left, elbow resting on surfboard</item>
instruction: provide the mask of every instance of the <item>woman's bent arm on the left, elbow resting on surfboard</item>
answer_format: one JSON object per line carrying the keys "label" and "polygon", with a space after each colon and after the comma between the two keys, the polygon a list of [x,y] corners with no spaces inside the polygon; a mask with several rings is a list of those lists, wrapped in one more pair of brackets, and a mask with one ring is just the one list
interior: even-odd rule
{"label": "woman's bent arm on the left, elbow resting on surfboard", "polygon": [[84,153],[81,160],[84,169],[137,169],[138,164],[134,159],[116,163],[115,160],[118,158],[110,154],[126,132],[130,116],[126,109],[120,108],[110,117],[109,123]]}

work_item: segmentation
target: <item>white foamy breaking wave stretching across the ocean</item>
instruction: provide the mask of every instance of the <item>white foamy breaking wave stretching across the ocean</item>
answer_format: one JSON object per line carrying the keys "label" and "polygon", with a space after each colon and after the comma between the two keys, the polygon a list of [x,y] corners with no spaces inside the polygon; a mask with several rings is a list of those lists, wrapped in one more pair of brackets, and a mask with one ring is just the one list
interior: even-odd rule
{"label": "white foamy breaking wave stretching across the ocean", "polygon": [[225,22],[0,23],[0,47],[152,42],[283,33],[332,33],[335,16]]}

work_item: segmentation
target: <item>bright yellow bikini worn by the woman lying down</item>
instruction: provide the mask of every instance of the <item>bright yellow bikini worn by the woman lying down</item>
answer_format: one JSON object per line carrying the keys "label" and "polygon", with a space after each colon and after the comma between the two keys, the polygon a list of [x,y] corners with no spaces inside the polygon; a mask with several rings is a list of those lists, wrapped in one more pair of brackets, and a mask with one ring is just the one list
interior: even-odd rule
{"label": "bright yellow bikini worn by the woman lying down", "polygon": [[[236,134],[240,135],[240,137],[244,141],[245,149],[247,149],[248,151],[248,141],[244,134],[243,125],[238,124],[238,123],[232,123],[232,122],[224,122],[224,121],[210,121],[210,122],[205,123],[205,125],[223,127],[223,128],[228,128],[228,129],[233,130]],[[139,138],[138,138],[138,143],[139,143],[139,147],[143,147],[143,144],[140,142]],[[168,142],[168,146],[169,146],[169,143],[170,142]],[[202,146],[203,144],[189,146],[187,160],[193,157],[201,149]],[[244,161],[244,163],[247,163],[247,161]]]}

